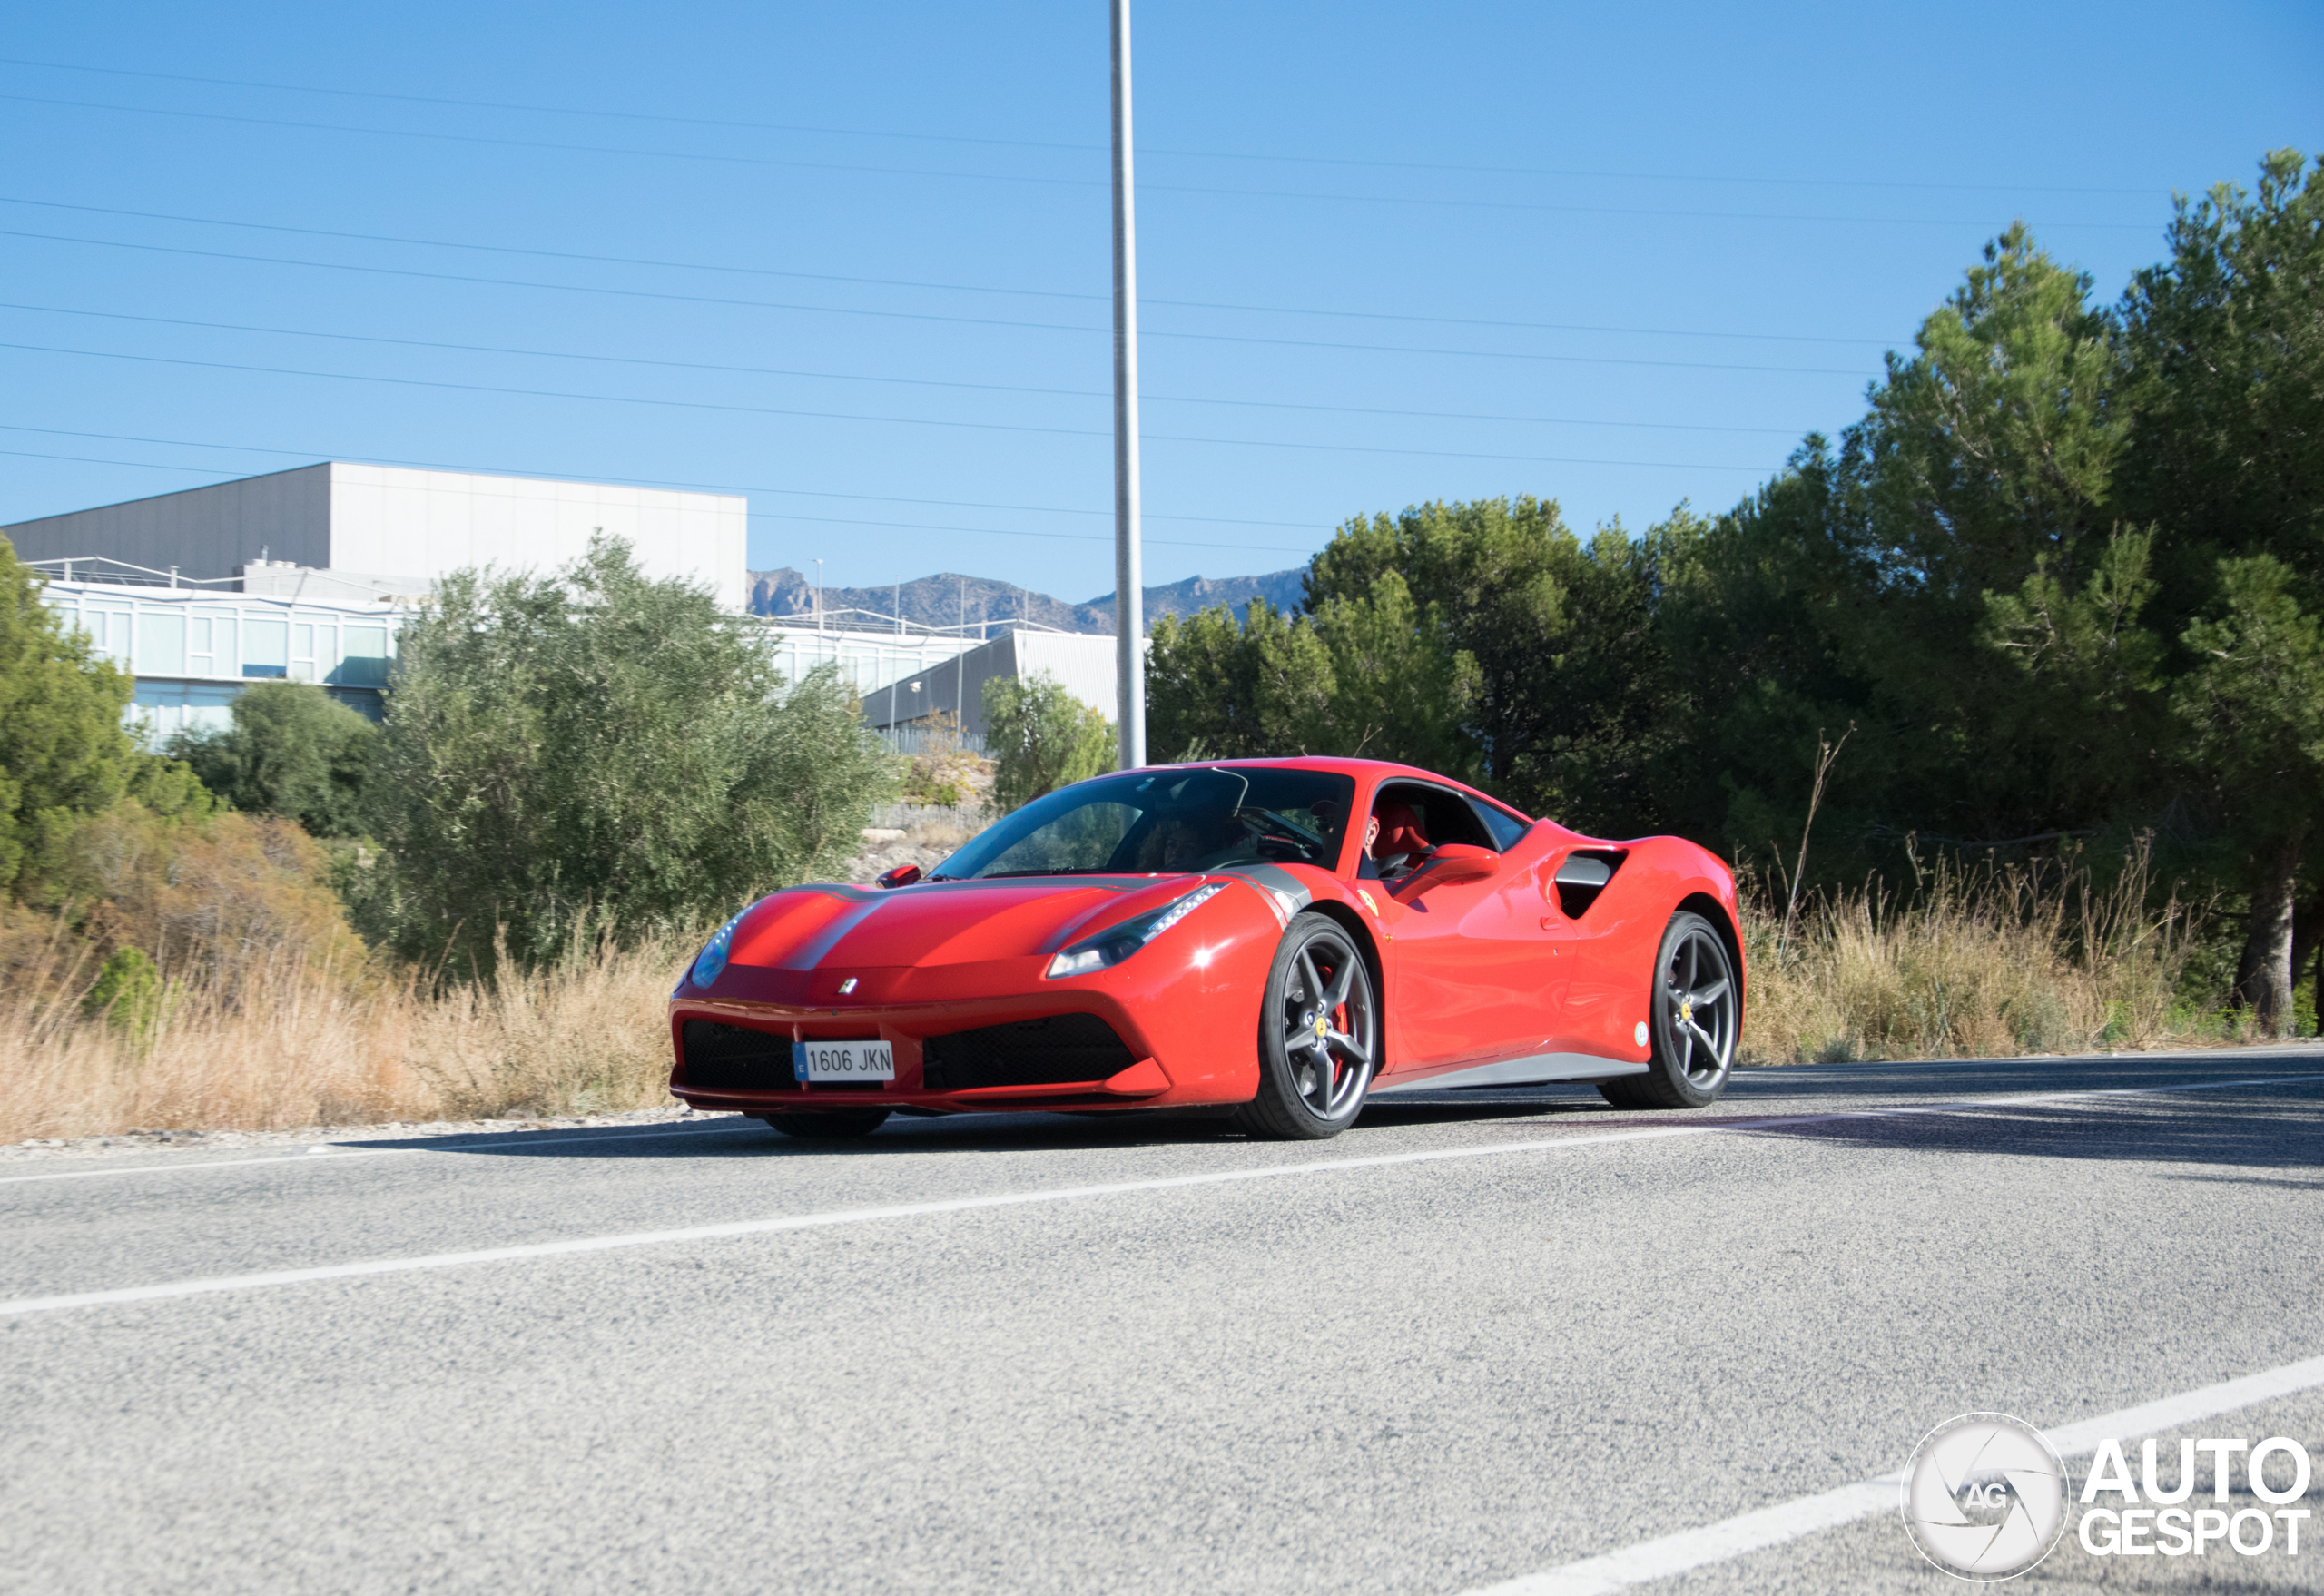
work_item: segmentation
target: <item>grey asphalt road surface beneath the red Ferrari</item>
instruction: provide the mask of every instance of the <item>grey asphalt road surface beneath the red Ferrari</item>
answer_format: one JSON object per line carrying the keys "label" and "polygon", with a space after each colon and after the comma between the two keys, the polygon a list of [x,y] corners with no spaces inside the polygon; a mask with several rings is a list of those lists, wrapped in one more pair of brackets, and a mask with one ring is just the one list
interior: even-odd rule
{"label": "grey asphalt road surface beneath the red Ferrari", "polygon": [[[9,1162],[0,1589],[1466,1591],[2324,1354],[2319,1129],[2284,1048]],[[2324,1473],[2324,1387],[2187,1433]],[[1643,1589],[1964,1587],[1887,1512]]]}

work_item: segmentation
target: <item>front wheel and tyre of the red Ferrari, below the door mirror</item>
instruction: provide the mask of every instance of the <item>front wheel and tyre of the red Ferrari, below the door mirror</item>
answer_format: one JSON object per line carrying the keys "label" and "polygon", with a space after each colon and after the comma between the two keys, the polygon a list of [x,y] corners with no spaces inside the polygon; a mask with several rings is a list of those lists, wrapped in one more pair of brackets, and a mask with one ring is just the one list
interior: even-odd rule
{"label": "front wheel and tyre of the red Ferrari, below the door mirror", "polygon": [[1329,915],[1297,915],[1260,1004],[1260,1094],[1234,1127],[1269,1141],[1339,1136],[1378,1071],[1380,999],[1362,948]]}

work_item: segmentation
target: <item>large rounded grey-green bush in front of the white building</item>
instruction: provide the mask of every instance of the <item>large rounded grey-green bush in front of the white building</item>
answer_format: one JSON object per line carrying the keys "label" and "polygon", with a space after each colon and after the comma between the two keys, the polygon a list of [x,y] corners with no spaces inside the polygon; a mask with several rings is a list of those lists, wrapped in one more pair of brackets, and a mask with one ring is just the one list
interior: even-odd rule
{"label": "large rounded grey-green bush in front of the white building", "polygon": [[365,929],[467,976],[718,920],[860,848],[892,760],[830,669],[600,539],[558,576],[462,571],[402,630],[372,771]]}

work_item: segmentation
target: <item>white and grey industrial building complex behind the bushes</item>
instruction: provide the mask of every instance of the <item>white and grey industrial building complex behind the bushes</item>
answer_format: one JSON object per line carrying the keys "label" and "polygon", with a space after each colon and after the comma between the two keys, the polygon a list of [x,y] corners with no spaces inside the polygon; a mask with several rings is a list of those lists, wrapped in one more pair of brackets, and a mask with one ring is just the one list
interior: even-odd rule
{"label": "white and grey industrial building complex behind the bushes", "polygon": [[[734,495],[328,460],[0,534],[49,576],[49,606],[135,678],[130,716],[167,739],[223,727],[235,695],[267,678],[311,681],[379,716],[397,623],[437,581],[548,571],[597,534],[625,539],[646,576],[706,585],[744,613],[746,527]],[[937,711],[981,739],[992,676],[1048,671],[1116,716],[1111,637],[1016,623],[985,639],[855,611],[760,625],[783,676],[837,667],[890,741]]]}

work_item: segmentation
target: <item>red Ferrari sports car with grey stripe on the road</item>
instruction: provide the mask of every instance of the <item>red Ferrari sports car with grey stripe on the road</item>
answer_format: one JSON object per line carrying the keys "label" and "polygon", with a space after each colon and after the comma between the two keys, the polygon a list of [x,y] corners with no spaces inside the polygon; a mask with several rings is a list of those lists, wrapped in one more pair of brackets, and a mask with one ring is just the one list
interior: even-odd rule
{"label": "red Ferrari sports car with grey stripe on the road", "polygon": [[1734,876],[1373,760],[1097,776],[930,876],[734,915],[669,1087],[792,1136],[892,1110],[1234,1106],[1334,1136],[1383,1092],[1594,1083],[1694,1108],[1743,1025]]}

